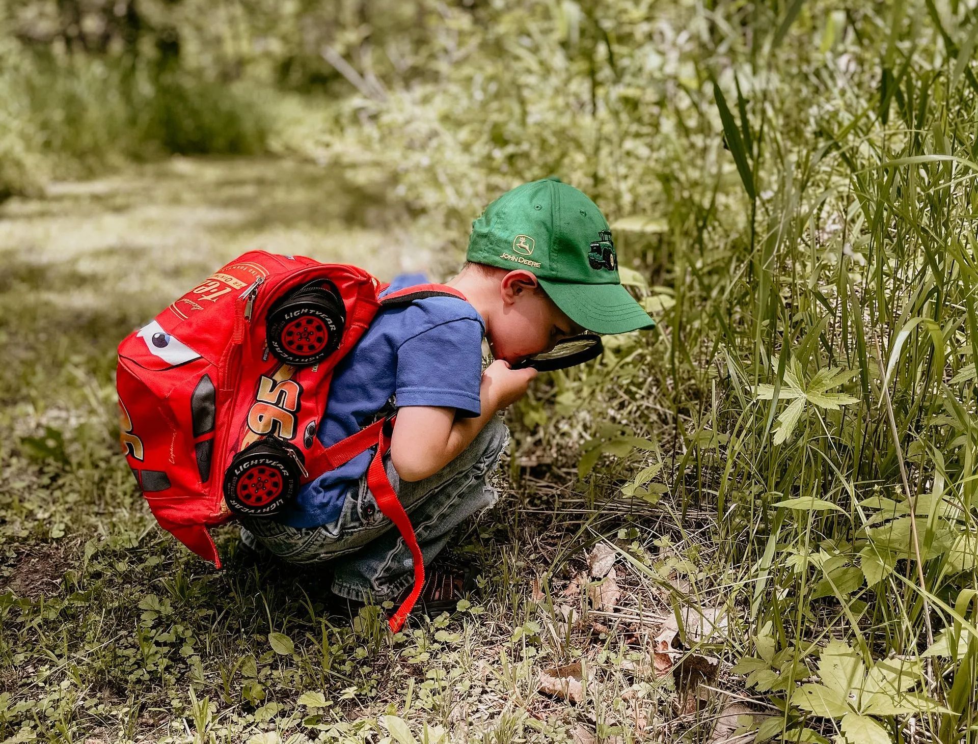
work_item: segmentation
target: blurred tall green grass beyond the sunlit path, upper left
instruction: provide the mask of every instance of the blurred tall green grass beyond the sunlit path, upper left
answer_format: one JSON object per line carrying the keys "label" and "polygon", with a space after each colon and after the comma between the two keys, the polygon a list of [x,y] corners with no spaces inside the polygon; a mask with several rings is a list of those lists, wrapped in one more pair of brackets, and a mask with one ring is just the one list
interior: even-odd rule
{"label": "blurred tall green grass beyond the sunlit path, upper left", "polygon": [[22,48],[0,38],[0,201],[169,154],[261,154],[284,95],[200,72]]}

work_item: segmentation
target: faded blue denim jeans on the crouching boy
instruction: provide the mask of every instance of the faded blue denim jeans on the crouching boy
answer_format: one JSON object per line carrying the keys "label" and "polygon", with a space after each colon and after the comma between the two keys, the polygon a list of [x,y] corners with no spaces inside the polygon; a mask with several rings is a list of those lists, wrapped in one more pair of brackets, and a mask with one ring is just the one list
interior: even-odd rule
{"label": "faded blue denim jeans on the crouching boy", "polygon": [[[425,565],[459,524],[496,503],[499,495],[486,483],[486,473],[499,462],[509,441],[503,419],[490,418],[459,457],[420,481],[402,481],[390,458],[384,457],[390,484],[411,516]],[[411,551],[394,523],[380,513],[366,474],[350,487],[339,517],[330,524],[296,528],[267,517],[241,517],[241,524],[248,547],[260,545],[291,563],[330,561],[331,589],[347,599],[392,599],[414,582]]]}

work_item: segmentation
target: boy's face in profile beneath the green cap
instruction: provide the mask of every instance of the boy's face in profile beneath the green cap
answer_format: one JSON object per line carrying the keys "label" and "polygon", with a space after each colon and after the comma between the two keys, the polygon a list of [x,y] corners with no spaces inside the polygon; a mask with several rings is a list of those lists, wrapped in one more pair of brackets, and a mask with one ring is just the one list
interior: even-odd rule
{"label": "boy's face in profile beneath the green cap", "polygon": [[510,364],[550,351],[584,332],[560,310],[528,271],[511,271],[500,284],[502,304],[490,324],[489,349]]}

